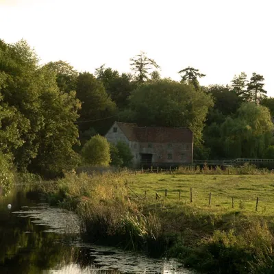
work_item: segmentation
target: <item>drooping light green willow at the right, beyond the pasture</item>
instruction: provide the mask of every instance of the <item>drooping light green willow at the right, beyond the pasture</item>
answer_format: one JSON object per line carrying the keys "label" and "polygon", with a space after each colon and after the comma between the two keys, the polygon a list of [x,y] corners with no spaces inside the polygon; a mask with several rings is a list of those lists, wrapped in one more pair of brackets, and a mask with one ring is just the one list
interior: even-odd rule
{"label": "drooping light green willow at the right, beyond the pasture", "polygon": [[235,118],[221,125],[221,142],[227,158],[262,158],[271,144],[273,123],[269,109],[242,103]]}

